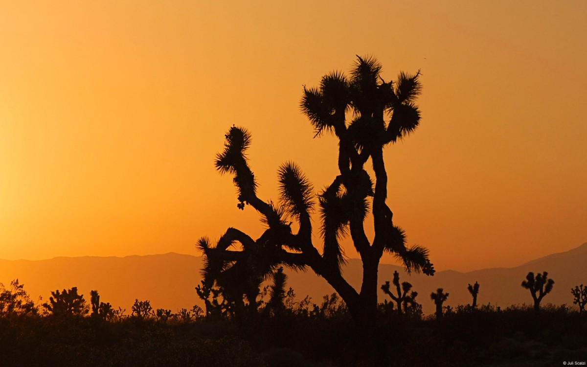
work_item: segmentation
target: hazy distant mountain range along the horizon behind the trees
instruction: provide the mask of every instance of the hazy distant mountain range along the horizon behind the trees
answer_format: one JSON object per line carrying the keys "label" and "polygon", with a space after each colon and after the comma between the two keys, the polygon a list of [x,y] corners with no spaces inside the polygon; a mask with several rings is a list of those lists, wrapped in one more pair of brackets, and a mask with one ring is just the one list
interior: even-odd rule
{"label": "hazy distant mountain range along the horizon behind the trees", "polygon": [[[201,257],[170,252],[163,255],[127,257],[56,257],[50,260],[0,260],[0,282],[8,285],[18,278],[33,299],[47,299],[55,289],[77,287],[89,300],[91,289],[97,289],[100,300],[114,307],[130,307],[134,299],[149,299],[153,308],[177,311],[203,306],[194,287],[200,283]],[[471,302],[467,284],[478,281],[480,291],[478,304],[507,307],[512,304],[530,304],[532,299],[527,289],[521,287],[529,271],[548,271],[555,285],[544,304],[572,305],[571,288],[587,284],[587,243],[557,254],[548,255],[514,268],[490,268],[470,272],[453,270],[437,271],[434,277],[422,274],[407,275],[403,268],[382,264],[379,267],[379,283],[393,279],[393,272],[400,272],[400,281],[409,281],[419,293],[417,300],[423,304],[424,312],[433,312],[430,293],[436,288],[449,292],[447,305],[456,306]],[[345,278],[353,287],[360,287],[362,279],[360,260],[349,260],[344,268]],[[311,270],[295,272],[286,270],[288,287],[295,290],[299,298],[306,295],[319,303],[323,295],[334,292],[332,287]],[[379,301],[387,296],[380,292]]]}

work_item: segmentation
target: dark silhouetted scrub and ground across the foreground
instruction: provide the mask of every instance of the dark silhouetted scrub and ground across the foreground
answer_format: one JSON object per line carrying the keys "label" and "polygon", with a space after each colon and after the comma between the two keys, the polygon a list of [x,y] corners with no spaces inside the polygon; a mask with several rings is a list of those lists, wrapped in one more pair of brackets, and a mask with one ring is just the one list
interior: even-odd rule
{"label": "dark silhouetted scrub and ground across the foreground", "polygon": [[19,287],[0,295],[2,366],[551,366],[587,358],[587,317],[566,306],[460,305],[436,318],[384,302],[366,334],[336,294],[316,305],[290,289],[247,317],[138,300],[125,315],[90,311],[82,295],[56,311]]}

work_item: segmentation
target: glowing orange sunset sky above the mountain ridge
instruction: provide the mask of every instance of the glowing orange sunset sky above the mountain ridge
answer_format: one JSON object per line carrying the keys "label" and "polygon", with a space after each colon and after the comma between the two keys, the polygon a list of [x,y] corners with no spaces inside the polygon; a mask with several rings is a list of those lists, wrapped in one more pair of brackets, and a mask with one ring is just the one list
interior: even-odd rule
{"label": "glowing orange sunset sky above the mountain ridge", "polygon": [[251,130],[262,198],[286,160],[322,188],[336,140],[312,139],[302,86],[356,54],[386,80],[422,70],[421,126],[386,150],[388,203],[437,269],[587,241],[586,2],[218,3],[2,2],[0,258],[261,234],[214,170],[225,131]]}

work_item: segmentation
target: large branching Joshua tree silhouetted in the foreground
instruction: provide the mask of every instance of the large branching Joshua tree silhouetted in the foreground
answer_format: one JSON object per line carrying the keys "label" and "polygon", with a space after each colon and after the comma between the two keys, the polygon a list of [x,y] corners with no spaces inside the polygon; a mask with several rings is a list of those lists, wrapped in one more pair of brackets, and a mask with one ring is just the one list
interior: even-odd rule
{"label": "large branching Joshua tree silhouetted in the foreground", "polygon": [[[394,254],[409,272],[434,274],[428,250],[407,245],[406,234],[394,225],[393,213],[386,204],[383,149],[414,132],[420,123],[420,111],[414,103],[421,91],[420,72],[402,72],[396,81],[386,82],[381,70],[375,58],[357,56],[349,76],[332,72],[323,76],[319,87],[303,89],[301,109],[315,136],[333,133],[339,140],[339,173],[318,193],[320,247],[312,238],[316,194],[302,170],[295,163],[283,164],[278,169],[279,203],[261,200],[246,156],[251,134],[241,127],[231,127],[216,167],[234,177],[238,207],[249,205],[257,210],[267,229],[257,240],[235,228],[228,228],[215,245],[201,238],[198,246],[206,257],[203,273],[208,284],[216,281],[219,287],[227,288],[223,283],[235,278],[254,280],[237,291],[238,297],[247,298],[251,304],[258,293],[258,284],[254,283],[279,266],[310,267],[338,292],[353,319],[369,323],[375,320],[377,268],[384,252]],[[369,160],[374,180],[365,169]],[[375,230],[372,241],[365,232],[369,213]],[[299,225],[297,233],[290,227],[292,221]],[[340,241],[348,235],[363,263],[360,289],[353,288],[340,270],[345,261]],[[249,274],[246,278],[244,272]]]}

